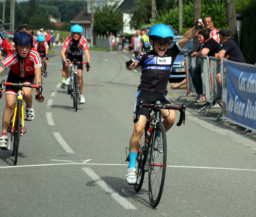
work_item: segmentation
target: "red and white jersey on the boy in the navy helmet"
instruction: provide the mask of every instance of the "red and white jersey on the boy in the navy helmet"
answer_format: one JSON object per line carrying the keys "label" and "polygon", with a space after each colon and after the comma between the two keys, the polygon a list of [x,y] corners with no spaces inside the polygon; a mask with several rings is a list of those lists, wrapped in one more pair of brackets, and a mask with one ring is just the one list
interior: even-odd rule
{"label": "red and white jersey on the boy in the navy helmet", "polygon": [[11,72],[22,78],[33,75],[34,68],[41,66],[42,63],[39,53],[32,47],[25,59],[18,54],[17,50],[14,50],[1,63],[1,67],[4,69],[10,68]]}

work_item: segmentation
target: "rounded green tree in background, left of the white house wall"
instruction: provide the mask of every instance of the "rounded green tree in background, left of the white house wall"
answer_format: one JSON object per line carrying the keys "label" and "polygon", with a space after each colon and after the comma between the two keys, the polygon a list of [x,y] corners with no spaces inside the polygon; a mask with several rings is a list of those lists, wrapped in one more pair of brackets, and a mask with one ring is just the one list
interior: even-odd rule
{"label": "rounded green tree in background, left of the white house wall", "polygon": [[103,5],[102,8],[95,7],[94,32],[107,35],[107,32],[116,34],[123,30],[123,14],[117,4],[116,2],[113,5]]}

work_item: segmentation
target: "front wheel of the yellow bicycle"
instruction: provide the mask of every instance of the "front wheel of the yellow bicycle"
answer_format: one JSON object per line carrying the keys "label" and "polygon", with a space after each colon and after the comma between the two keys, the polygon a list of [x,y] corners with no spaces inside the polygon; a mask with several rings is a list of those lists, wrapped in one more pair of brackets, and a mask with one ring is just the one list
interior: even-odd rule
{"label": "front wheel of the yellow bicycle", "polygon": [[17,108],[17,114],[15,118],[15,127],[14,127],[14,165],[17,164],[18,159],[18,146],[20,143],[20,122],[21,122],[21,101],[18,100],[18,108]]}

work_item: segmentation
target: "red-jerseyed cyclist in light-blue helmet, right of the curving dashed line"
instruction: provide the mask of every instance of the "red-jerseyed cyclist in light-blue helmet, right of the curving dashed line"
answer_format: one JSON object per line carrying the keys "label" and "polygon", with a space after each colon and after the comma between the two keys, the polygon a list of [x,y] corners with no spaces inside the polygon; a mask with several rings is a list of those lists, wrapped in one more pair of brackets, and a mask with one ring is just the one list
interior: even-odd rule
{"label": "red-jerseyed cyclist in light-blue helmet, right of the curving dashed line", "polygon": [[[62,51],[60,52],[60,55],[63,58],[63,61],[65,62],[65,73],[66,73],[66,85],[70,85],[70,75],[69,75],[69,64],[74,59],[78,60],[79,62],[83,62],[83,51],[85,52],[86,56],[86,67],[88,70],[91,70],[90,67],[90,54],[89,54],[89,46],[87,44],[87,41],[84,36],[82,36],[83,28],[75,24],[71,26],[71,34],[66,38]],[[65,56],[65,52],[68,51],[68,53]],[[79,84],[79,91],[80,91],[80,103],[85,103],[84,98],[84,81],[82,78],[82,64],[78,64],[78,84]]]}

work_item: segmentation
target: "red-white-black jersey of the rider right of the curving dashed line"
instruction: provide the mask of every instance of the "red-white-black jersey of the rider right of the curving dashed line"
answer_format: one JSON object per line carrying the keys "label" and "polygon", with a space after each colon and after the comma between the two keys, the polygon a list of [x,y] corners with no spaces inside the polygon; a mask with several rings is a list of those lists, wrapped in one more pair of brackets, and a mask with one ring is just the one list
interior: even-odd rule
{"label": "red-white-black jersey of the rider right of the curving dashed line", "polygon": [[65,42],[63,47],[68,48],[68,53],[72,55],[83,55],[83,50],[88,50],[89,46],[87,44],[87,40],[84,36],[80,36],[79,42],[73,40],[73,36],[69,35]]}

